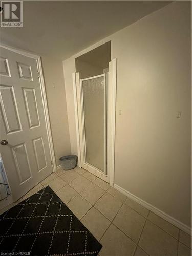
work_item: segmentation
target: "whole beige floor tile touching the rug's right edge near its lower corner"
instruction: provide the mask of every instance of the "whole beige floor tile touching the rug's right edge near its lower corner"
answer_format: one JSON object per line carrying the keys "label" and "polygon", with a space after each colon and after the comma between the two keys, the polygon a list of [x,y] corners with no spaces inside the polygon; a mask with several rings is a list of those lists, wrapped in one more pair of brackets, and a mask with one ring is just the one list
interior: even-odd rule
{"label": "whole beige floor tile touching the rug's right edge near its lower corner", "polygon": [[103,233],[111,223],[94,207],[92,207],[87,214],[83,216],[81,222],[98,240],[102,237]]}

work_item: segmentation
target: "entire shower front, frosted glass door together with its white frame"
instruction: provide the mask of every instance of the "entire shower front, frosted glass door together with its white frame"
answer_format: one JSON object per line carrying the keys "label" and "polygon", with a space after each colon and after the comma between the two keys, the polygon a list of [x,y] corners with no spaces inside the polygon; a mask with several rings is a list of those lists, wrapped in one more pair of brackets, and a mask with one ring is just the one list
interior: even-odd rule
{"label": "entire shower front, frosted glass door together with its white frame", "polygon": [[73,73],[78,165],[113,184],[116,59],[108,73],[80,75]]}

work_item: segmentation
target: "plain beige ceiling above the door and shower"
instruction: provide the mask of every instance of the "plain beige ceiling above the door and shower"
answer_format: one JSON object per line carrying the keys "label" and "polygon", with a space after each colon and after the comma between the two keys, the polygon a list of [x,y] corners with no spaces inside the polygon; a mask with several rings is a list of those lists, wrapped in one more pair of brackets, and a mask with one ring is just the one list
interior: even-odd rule
{"label": "plain beige ceiling above the door and shower", "polygon": [[3,44],[61,60],[172,1],[23,1],[23,28],[1,28]]}

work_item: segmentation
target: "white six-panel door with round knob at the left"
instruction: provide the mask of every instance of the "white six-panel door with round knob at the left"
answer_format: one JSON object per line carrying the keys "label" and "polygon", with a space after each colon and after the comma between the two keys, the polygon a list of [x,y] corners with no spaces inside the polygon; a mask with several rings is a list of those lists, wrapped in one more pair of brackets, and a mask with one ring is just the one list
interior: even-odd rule
{"label": "white six-panel door with round knob at the left", "polygon": [[0,48],[0,144],[13,200],[52,173],[37,63]]}

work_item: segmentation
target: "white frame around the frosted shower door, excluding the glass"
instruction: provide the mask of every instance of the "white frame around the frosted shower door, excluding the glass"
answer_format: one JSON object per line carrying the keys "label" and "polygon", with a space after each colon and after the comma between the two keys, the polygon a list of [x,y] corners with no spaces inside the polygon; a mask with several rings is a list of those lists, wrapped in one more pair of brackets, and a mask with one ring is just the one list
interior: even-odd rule
{"label": "white frame around the frosted shower door, excluding the glass", "polygon": [[[99,75],[104,76],[104,74]],[[82,80],[88,80],[99,76],[89,77]],[[84,141],[84,119],[83,119],[83,101],[82,84],[80,73],[73,73],[73,93],[75,106],[75,124],[77,136],[78,166],[87,169],[90,173],[102,180],[114,185],[114,162],[115,162],[115,115],[116,115],[116,77],[117,77],[117,59],[109,62],[109,72],[107,77],[107,128],[106,128],[106,174],[96,167],[86,163],[85,160],[85,141]]]}

